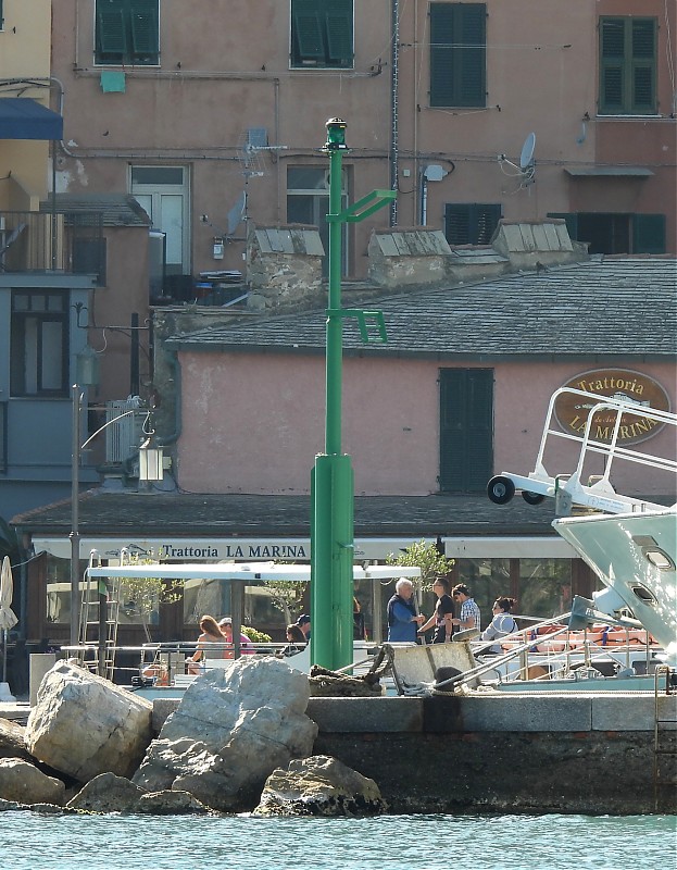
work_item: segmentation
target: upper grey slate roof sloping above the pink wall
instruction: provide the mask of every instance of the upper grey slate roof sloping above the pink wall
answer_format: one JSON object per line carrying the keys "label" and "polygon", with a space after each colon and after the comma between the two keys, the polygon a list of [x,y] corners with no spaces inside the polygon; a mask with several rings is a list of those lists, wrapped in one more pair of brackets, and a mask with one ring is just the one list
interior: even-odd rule
{"label": "upper grey slate roof sloping above the pink wall", "polygon": [[[381,297],[387,344],[361,341],[343,321],[350,355],[464,359],[660,360],[677,352],[677,260],[595,259],[540,266],[449,289]],[[215,326],[167,341],[191,351],[322,353],[324,310]]]}

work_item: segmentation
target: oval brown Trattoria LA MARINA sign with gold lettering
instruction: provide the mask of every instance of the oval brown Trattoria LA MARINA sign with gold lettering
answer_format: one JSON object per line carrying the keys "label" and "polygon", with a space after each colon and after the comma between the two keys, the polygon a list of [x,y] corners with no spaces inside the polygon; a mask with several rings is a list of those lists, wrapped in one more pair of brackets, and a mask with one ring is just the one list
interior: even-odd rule
{"label": "oval brown Trattoria LA MARINA sign with gold lettering", "polygon": [[[623,445],[643,442],[663,428],[663,423],[643,415],[642,408],[651,408],[654,411],[670,410],[665,389],[653,377],[641,372],[626,369],[595,369],[572,377],[563,386],[636,405],[637,412],[625,413],[620,420],[618,444]],[[592,405],[594,401],[584,396],[563,393],[557,397],[554,408],[557,423],[565,432],[582,437]],[[591,437],[598,442],[611,442],[615,423],[615,413],[599,411],[592,421]]]}

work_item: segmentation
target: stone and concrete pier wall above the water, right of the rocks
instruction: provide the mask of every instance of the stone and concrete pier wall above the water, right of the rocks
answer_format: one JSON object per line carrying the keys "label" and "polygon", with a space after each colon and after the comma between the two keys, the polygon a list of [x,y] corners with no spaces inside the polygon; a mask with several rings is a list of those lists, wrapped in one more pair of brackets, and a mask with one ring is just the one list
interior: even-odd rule
{"label": "stone and concrete pier wall above the water, right of the rocks", "polygon": [[[161,726],[177,700],[154,700]],[[393,812],[677,812],[677,695],[311,698],[314,751]]]}

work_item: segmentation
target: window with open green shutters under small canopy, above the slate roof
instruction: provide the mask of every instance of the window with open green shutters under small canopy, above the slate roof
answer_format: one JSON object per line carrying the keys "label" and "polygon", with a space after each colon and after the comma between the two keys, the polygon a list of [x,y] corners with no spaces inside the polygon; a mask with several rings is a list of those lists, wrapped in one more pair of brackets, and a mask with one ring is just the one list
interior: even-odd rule
{"label": "window with open green shutters under small canopy, above the slate roof", "polygon": [[569,236],[586,243],[589,253],[666,253],[664,214],[571,212],[548,216],[563,217]]}

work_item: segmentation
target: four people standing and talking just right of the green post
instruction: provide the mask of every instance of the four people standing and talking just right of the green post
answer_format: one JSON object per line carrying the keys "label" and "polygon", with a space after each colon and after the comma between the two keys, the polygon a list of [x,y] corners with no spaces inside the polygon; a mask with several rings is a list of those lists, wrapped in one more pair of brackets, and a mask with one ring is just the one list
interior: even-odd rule
{"label": "four people standing and talking just right of the green post", "polygon": [[[414,584],[405,577],[400,579],[394,587],[394,595],[388,601],[388,641],[392,643],[415,642],[434,629],[432,643],[444,644],[452,639],[454,633],[469,629],[481,629],[481,613],[471,591],[465,583],[457,583],[451,588],[447,577],[436,577],[432,592],[437,602],[432,616],[426,620],[418,613],[414,600]],[[515,606],[514,598],[501,596],[492,607],[491,623],[481,632],[482,641],[493,641],[516,632],[518,626],[511,614]],[[459,607],[459,616],[454,612]],[[454,632],[455,630],[455,632]],[[500,651],[500,644],[494,644],[489,651]]]}

